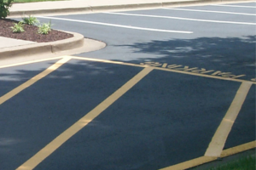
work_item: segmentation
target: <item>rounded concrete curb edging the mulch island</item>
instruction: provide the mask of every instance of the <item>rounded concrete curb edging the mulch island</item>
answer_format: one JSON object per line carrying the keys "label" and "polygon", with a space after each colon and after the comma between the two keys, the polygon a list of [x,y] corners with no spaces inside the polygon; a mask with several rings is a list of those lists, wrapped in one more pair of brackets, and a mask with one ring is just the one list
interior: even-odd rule
{"label": "rounded concrete curb edging the mulch island", "polygon": [[[66,31],[67,32],[67,31]],[[79,48],[84,45],[84,36],[75,32],[73,37],[55,42],[40,42],[17,47],[0,49],[0,59],[14,58],[19,56],[29,56],[44,53],[57,53],[68,49]]]}

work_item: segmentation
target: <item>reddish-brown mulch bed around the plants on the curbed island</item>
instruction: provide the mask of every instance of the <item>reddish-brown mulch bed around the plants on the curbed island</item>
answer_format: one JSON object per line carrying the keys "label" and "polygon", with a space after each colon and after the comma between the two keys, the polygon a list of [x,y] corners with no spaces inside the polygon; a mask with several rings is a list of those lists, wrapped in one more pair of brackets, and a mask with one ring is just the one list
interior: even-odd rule
{"label": "reddish-brown mulch bed around the plants on the curbed island", "polygon": [[27,40],[32,42],[55,42],[58,40],[67,39],[73,37],[73,34],[69,34],[63,31],[51,30],[49,34],[38,34],[38,26],[24,25],[24,32],[13,33],[11,26],[14,23],[18,23],[16,20],[0,19],[0,37],[10,37],[20,40]]}

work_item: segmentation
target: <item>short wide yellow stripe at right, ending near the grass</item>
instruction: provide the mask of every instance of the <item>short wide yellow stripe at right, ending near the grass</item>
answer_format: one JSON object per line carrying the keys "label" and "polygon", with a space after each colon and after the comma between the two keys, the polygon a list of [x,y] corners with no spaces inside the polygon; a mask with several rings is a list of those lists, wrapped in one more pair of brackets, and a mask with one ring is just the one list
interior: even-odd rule
{"label": "short wide yellow stripe at right, ending near the grass", "polygon": [[230,130],[234,122],[236,121],[236,117],[238,116],[239,111],[241,110],[241,105],[246,99],[247,93],[251,88],[252,84],[253,83],[249,83],[249,82],[241,83],[241,86],[236,92],[236,96],[233,99],[229,110],[227,111],[222,122],[218,126],[218,129],[215,132],[214,136],[212,137],[212,141],[207,148],[205,156],[221,155],[226,139],[228,138]]}

